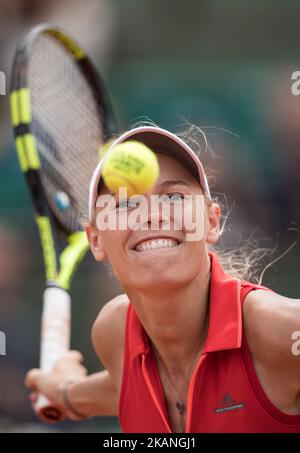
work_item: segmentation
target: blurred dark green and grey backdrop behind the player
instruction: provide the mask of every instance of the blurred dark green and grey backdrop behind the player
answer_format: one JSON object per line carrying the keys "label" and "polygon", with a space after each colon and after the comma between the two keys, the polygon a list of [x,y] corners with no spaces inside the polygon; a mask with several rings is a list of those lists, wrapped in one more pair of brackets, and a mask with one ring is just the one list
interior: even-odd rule
{"label": "blurred dark green and grey backdrop behind the player", "polygon": [[[300,97],[291,93],[299,17],[296,0],[0,0],[0,70],[9,80],[15,47],[32,25],[64,27],[97,63],[123,129],[145,118],[174,132],[203,128],[216,155],[205,156],[213,194],[225,211],[232,207],[225,246],[254,232],[280,255],[298,239],[300,221]],[[23,379],[38,364],[44,277],[8,101],[0,97],[0,431],[116,431],[110,418],[47,427],[28,402]],[[299,298],[299,260],[296,245],[263,284]],[[101,368],[93,320],[119,292],[88,257],[72,289],[72,347],[90,372]]]}

